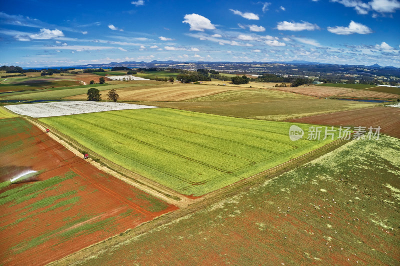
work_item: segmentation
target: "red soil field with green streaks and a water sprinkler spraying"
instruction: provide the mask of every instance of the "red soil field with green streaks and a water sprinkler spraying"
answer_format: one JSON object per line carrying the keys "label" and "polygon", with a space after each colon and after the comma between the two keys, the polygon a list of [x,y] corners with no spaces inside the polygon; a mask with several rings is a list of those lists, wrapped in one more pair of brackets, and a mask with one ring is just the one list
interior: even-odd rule
{"label": "red soil field with green streaks and a water sprinkler spraying", "polygon": [[[22,118],[0,120],[0,143],[1,265],[45,265],[177,209],[96,169]],[[5,186],[24,170],[37,175]]]}

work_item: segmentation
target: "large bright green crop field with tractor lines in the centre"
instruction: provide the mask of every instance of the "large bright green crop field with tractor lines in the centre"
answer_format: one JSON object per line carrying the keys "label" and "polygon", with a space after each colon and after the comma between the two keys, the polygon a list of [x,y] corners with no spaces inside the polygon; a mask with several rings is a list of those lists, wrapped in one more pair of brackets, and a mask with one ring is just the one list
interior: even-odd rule
{"label": "large bright green crop field with tractor lines in the centre", "polygon": [[[331,142],[290,141],[291,123],[173,109],[39,119],[102,157],[185,194],[201,196]],[[300,125],[307,136],[307,125]]]}

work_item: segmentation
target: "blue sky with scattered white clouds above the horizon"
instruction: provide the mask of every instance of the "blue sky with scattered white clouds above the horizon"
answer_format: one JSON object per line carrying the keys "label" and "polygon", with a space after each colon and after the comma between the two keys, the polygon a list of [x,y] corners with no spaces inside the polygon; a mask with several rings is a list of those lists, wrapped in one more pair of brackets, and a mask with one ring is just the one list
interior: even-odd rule
{"label": "blue sky with scattered white clouds above the horizon", "polygon": [[1,7],[1,65],[307,60],[400,67],[399,0],[12,0]]}

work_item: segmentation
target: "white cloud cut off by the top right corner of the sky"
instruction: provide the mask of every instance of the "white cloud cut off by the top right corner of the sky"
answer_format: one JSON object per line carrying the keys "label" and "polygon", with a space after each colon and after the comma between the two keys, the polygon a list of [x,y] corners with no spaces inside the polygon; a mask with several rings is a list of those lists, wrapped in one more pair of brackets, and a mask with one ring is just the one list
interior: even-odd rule
{"label": "white cloud cut off by the top right corner of the sky", "polygon": [[370,10],[379,13],[394,13],[400,9],[398,0],[372,0],[367,3],[361,0],[331,0],[341,3],[346,7],[353,7],[358,14],[367,14]]}

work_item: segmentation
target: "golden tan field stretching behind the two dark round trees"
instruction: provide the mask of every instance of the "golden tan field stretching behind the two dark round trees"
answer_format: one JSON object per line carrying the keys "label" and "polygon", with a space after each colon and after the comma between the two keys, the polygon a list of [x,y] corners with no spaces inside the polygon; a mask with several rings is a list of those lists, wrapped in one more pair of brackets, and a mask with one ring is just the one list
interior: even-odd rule
{"label": "golden tan field stretching behind the two dark round trees", "polygon": [[[230,86],[212,86],[212,85],[194,85],[194,84],[172,84],[165,83],[164,86],[156,87],[129,87],[118,89],[119,101],[182,101],[229,90],[243,90],[251,88],[230,87]],[[106,95],[108,90],[103,91]],[[71,100],[86,99],[86,94],[67,97]]]}

